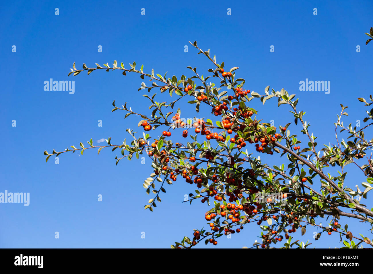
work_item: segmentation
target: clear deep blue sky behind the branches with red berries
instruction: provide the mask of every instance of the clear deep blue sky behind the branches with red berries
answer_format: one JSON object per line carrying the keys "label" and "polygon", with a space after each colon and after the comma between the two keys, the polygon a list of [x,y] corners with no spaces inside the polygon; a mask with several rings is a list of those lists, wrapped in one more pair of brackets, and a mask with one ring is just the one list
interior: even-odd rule
{"label": "clear deep blue sky behind the branches with red berries", "polygon": [[[228,8],[232,15],[227,15]],[[364,117],[363,104],[356,98],[368,97],[372,90],[373,44],[365,45],[364,34],[373,25],[372,10],[372,1],[4,2],[0,8],[0,192],[29,192],[30,205],[0,204],[0,247],[169,248],[183,236],[190,237],[192,229],[206,226],[204,212],[209,207],[182,203],[185,194],[194,192],[194,186],[182,180],[166,186],[167,193],[153,212],[144,210],[153,198],[142,187],[151,173],[148,158],[145,165],[122,160],[116,166],[117,151],[103,149],[98,156],[91,149],[84,155],[62,154],[59,164],[52,157],[46,163],[44,150],[63,151],[70,145],[78,147],[79,142],[87,144],[90,138],[95,145],[109,136],[113,144],[129,138],[125,129],[137,128],[140,117],[124,120],[123,111],[111,113],[113,100],[148,111],[143,91],[137,91],[143,81],[138,75],[101,70],[68,78],[74,61],[79,68],[83,63],[111,65],[114,60],[128,67],[136,61],[138,66],[144,64],[146,72],[154,68],[156,73],[168,71],[178,77],[191,76],[186,66],[197,66],[207,75],[209,61],[192,47],[184,52],[189,40],[197,40],[201,48],[216,54],[218,63],[240,67],[236,75],[246,79],[247,89],[263,93],[270,85],[297,94],[298,108],[307,112],[304,118],[319,136],[321,149],[321,144],[335,142],[333,122],[340,103],[350,106],[345,123]],[[75,94],[44,91],[43,82],[50,78],[74,80]],[[330,94],[299,91],[299,82],[306,78],[330,81]],[[171,99],[163,95],[156,98]],[[294,120],[286,107],[277,108],[277,101],[268,101],[264,108],[260,101],[250,104],[263,119],[275,120],[276,126]],[[193,110],[185,105],[185,111],[187,107]],[[97,126],[98,120],[103,127]],[[300,127],[293,123],[290,130],[299,132]],[[181,139],[181,133],[173,136]],[[282,163],[276,157],[267,162]],[[351,170],[347,181],[354,188],[364,178]],[[97,201],[98,194],[103,195],[102,202]],[[372,199],[365,204],[372,206]],[[350,223],[352,233],[370,235],[369,227]],[[56,231],[59,239],[54,238]],[[221,237],[218,247],[251,246],[259,234],[256,225],[245,226],[232,239]],[[312,236],[309,228],[301,239],[312,240],[318,248],[340,246],[338,235],[323,235],[319,241]]]}

